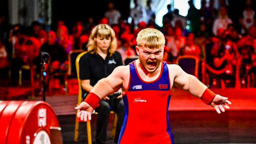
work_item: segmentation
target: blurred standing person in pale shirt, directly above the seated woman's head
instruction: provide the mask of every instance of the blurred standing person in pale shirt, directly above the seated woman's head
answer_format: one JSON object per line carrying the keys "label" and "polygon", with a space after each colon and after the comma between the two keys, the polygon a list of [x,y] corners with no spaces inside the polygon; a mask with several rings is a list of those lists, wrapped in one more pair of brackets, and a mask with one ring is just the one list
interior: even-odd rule
{"label": "blurred standing person in pale shirt, directly above the seated woman's head", "polygon": [[105,13],[105,17],[108,18],[109,25],[118,24],[121,16],[121,13],[114,8],[114,4],[112,2],[108,3],[108,11]]}

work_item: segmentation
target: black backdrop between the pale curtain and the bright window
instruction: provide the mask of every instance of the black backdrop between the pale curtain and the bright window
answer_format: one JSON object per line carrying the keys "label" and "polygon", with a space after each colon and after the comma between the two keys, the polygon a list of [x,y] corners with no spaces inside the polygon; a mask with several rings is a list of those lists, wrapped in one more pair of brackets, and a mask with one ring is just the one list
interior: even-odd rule
{"label": "black backdrop between the pale curtain and the bright window", "polygon": [[108,3],[113,2],[115,8],[122,14],[122,19],[127,19],[130,11],[130,0],[74,0],[72,1],[52,1],[52,28],[56,28],[58,20],[64,20],[69,31],[76,21],[88,22],[89,17],[98,20],[104,17],[108,10]]}

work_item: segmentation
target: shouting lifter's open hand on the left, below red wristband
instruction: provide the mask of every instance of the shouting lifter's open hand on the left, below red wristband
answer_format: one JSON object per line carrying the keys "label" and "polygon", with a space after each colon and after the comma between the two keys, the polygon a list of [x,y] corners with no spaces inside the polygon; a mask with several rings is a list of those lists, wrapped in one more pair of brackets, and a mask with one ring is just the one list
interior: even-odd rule
{"label": "shouting lifter's open hand on the left, below red wristband", "polygon": [[82,102],[75,109],[78,110],[77,117],[82,121],[87,121],[87,116],[88,120],[92,119],[93,108],[87,102]]}

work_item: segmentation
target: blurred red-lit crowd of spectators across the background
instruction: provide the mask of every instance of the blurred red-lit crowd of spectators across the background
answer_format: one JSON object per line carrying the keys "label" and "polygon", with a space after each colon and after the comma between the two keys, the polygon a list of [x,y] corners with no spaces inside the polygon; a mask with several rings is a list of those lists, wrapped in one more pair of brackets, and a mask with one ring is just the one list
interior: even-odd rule
{"label": "blurred red-lit crowd of spectators across the background", "polygon": [[[226,75],[232,75],[239,64],[240,77],[256,72],[256,27],[255,11],[252,0],[246,0],[246,7],[241,14],[236,28],[229,18],[229,7],[225,0],[220,0],[220,8],[215,9],[214,0],[206,4],[201,2],[198,10],[192,1],[186,17],[179,10],[171,10],[163,16],[163,27],[156,24],[156,13],[152,1],[147,1],[144,9],[137,0],[130,11],[132,22],[122,20],[122,14],[115,9],[114,3],[108,4],[108,11],[98,22],[91,17],[88,23],[77,21],[68,30],[65,21],[59,20],[55,31],[45,31],[40,23],[33,22],[30,27],[19,24],[9,26],[4,16],[0,17],[0,77],[12,77],[12,84],[17,84],[19,69],[22,65],[36,66],[40,74],[40,51],[50,54],[49,69],[65,71],[68,68],[70,51],[87,50],[88,37],[98,23],[110,25],[116,34],[117,51],[123,59],[136,55],[136,36],[141,29],[156,28],[165,35],[164,61],[175,63],[180,55],[193,55],[216,70],[229,68]],[[207,5],[207,6],[206,6]],[[207,54],[208,53],[208,54]]]}

